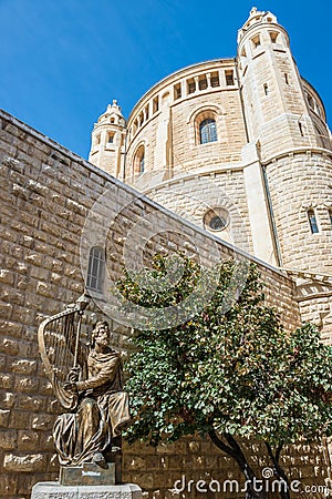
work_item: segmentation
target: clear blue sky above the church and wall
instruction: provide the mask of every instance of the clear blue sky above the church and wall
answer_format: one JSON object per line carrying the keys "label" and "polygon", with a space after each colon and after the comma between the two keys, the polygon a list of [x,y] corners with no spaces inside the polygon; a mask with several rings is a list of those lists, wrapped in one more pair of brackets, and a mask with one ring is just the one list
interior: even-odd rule
{"label": "clear blue sky above the church and wall", "polygon": [[253,4],[288,30],[331,128],[331,0],[0,0],[0,108],[87,157],[107,103],[127,118],[167,74],[235,57]]}

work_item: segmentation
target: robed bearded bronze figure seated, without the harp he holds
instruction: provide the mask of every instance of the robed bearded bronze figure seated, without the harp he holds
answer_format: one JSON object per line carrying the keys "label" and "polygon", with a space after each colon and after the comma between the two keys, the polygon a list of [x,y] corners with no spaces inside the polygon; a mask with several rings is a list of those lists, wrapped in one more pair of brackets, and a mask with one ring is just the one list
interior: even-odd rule
{"label": "robed bearded bronze figure seated, without the harp he holds", "polygon": [[80,342],[80,368],[72,369],[63,385],[79,401],[75,411],[60,415],[54,424],[62,466],[95,462],[105,467],[107,455],[121,450],[116,442],[129,421],[128,395],[123,391],[121,354],[110,347],[110,336],[108,324],[96,323],[91,344]]}

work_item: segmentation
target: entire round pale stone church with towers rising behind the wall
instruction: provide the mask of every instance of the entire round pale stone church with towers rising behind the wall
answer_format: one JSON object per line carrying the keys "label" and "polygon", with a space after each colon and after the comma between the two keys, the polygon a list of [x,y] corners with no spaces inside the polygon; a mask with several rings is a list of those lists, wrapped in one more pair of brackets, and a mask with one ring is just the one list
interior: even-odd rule
{"label": "entire round pale stone church with towers rising behind the wall", "polygon": [[[90,156],[101,167],[113,161],[102,136],[94,149],[103,116]],[[122,151],[108,172],[283,268],[303,318],[332,339],[331,133],[274,14],[251,10],[236,58],[184,68],[148,90],[127,120],[123,170]]]}

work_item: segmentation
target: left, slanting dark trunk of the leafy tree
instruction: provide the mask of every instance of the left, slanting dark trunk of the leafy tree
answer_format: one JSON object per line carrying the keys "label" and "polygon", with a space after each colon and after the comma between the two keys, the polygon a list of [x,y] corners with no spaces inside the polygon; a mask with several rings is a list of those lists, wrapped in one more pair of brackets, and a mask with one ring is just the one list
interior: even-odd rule
{"label": "left, slanting dark trunk of the leafy tree", "polygon": [[229,435],[222,435],[227,440],[225,444],[217,435],[215,429],[210,429],[209,437],[212,442],[228,456],[230,456],[239,466],[246,479],[246,496],[245,499],[264,499],[264,491],[260,490],[261,480],[259,480],[252,468],[249,466],[247,458],[236,439]]}

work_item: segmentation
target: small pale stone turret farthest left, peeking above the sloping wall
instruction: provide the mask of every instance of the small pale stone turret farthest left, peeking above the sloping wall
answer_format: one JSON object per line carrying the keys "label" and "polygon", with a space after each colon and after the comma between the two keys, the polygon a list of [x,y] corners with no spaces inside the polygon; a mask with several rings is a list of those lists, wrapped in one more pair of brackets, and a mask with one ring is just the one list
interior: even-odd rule
{"label": "small pale stone turret farthest left, peeking above the sloping wall", "polygon": [[117,101],[108,104],[92,131],[89,161],[116,179],[123,180],[126,121]]}

